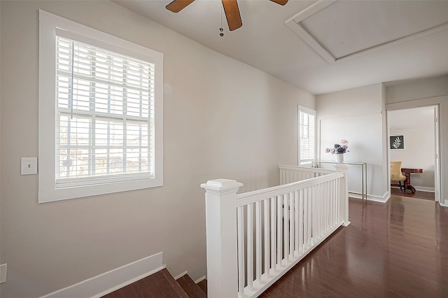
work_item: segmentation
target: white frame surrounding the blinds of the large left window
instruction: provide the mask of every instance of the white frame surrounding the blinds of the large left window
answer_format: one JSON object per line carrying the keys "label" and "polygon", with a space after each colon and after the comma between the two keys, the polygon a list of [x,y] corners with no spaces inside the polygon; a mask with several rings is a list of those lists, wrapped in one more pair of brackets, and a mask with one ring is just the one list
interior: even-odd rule
{"label": "white frame surrounding the blinds of the large left window", "polygon": [[[151,178],[102,181],[94,185],[56,187],[56,36],[57,31],[78,41],[119,52],[155,64],[155,157]],[[79,40],[81,39],[81,40]],[[39,10],[39,111],[38,111],[38,202],[59,201],[98,194],[125,192],[163,185],[163,55],[141,45]]]}

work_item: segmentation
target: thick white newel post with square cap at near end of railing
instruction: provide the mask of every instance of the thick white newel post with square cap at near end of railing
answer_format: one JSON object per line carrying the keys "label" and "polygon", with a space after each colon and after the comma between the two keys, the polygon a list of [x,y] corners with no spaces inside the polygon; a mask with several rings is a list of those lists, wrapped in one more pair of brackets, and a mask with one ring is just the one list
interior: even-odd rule
{"label": "thick white newel post with square cap at near end of railing", "polygon": [[235,180],[209,180],[205,194],[207,236],[207,296],[238,295],[236,194],[243,184]]}

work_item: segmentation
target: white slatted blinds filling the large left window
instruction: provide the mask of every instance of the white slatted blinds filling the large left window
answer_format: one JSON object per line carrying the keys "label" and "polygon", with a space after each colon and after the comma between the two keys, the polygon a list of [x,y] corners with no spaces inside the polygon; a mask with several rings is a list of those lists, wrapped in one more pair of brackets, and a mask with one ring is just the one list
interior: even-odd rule
{"label": "white slatted blinds filling the large left window", "polygon": [[154,71],[57,36],[56,187],[153,177]]}

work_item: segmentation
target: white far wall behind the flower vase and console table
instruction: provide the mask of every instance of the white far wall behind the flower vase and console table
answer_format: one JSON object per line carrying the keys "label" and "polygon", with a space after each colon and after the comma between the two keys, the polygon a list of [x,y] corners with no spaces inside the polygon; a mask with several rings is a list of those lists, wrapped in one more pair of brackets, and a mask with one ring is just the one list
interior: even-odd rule
{"label": "white far wall behind the flower vase and console table", "polygon": [[[383,87],[375,84],[316,96],[316,118],[320,159],[334,160],[326,147],[349,140],[347,162],[367,162],[367,195],[383,201],[386,187],[383,178],[384,137],[381,115]],[[349,169],[349,191],[361,192],[360,167]]]}

